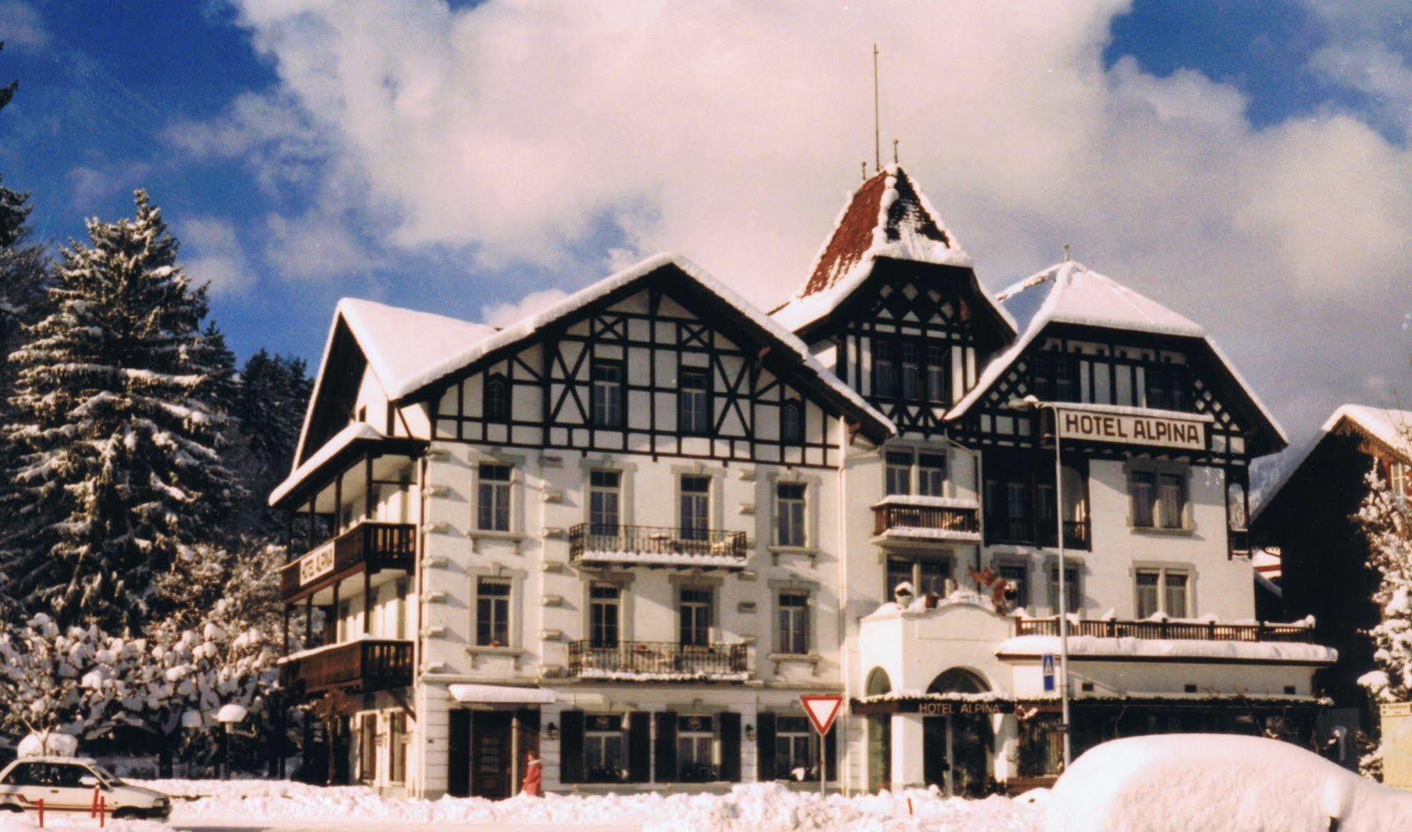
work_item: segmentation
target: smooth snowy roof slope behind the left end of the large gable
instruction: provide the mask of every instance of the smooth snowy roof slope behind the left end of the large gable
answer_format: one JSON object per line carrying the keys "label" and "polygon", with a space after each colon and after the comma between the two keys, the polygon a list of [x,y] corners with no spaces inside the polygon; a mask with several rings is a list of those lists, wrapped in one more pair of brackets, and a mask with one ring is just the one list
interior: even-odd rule
{"label": "smooth snowy roof slope behind the left end of the large gable", "polygon": [[357,298],[339,301],[335,314],[347,323],[373,374],[390,396],[419,377],[428,364],[496,333],[496,328],[486,323]]}

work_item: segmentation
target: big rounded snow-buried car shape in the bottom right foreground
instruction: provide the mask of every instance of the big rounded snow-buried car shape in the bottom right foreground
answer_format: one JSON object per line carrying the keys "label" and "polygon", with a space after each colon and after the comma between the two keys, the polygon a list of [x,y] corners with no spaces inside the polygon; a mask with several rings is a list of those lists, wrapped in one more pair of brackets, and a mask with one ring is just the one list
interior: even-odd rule
{"label": "big rounded snow-buried car shape in the bottom right foreground", "polygon": [[1079,757],[1046,801],[1045,832],[1395,832],[1412,794],[1353,774],[1291,743],[1158,735]]}

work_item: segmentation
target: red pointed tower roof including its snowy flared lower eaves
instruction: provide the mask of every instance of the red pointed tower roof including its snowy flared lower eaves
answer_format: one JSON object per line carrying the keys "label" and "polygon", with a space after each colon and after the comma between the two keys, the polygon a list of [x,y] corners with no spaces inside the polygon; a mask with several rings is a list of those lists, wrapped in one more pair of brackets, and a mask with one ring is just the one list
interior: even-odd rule
{"label": "red pointed tower roof including its snowy flared lower eaves", "polygon": [[[971,267],[926,195],[899,165],[888,165],[850,194],[833,223],[833,232],[815,254],[809,277],[786,304],[772,312],[775,321],[799,331],[827,315],[873,274],[880,257]],[[995,314],[1015,329],[1010,315],[976,284]]]}

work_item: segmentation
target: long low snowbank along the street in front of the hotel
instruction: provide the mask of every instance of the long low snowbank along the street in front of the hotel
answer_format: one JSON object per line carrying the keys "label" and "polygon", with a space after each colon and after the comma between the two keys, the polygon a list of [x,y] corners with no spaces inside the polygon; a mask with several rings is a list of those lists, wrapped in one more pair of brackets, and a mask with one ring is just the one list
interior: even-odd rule
{"label": "long low snowbank along the street in front of the hotel", "polygon": [[[969,832],[1039,832],[1043,809],[1003,797],[984,801],[945,798],[936,791],[819,797],[777,784],[737,785],[723,794],[606,794],[517,797],[508,801],[442,798],[438,801],[381,798],[370,788],[319,788],[297,783],[179,781],[144,783],[169,794],[209,794],[178,802],[172,824],[239,821],[241,825],[278,819],[356,821],[360,824],[481,824],[481,825],[640,825],[658,831],[858,829]],[[911,801],[911,814],[908,809]]]}

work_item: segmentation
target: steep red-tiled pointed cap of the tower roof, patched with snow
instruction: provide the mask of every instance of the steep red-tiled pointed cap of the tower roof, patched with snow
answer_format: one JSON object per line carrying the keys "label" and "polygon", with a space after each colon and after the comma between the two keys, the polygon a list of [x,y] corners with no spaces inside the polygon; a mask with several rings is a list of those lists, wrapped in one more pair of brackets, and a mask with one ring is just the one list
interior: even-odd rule
{"label": "steep red-tiled pointed cap of the tower roof, patched with snow", "polygon": [[892,164],[849,196],[795,298],[836,287],[873,257],[970,267],[971,258],[901,165]]}

